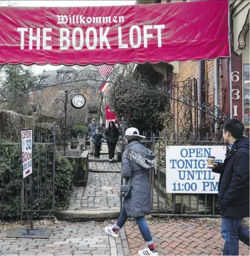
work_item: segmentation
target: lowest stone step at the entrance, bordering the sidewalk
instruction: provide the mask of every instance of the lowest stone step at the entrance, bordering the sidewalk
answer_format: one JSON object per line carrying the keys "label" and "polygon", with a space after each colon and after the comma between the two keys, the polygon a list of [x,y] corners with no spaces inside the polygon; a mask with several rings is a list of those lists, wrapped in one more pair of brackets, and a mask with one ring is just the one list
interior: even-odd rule
{"label": "lowest stone step at the entrance, bordering the sidewalk", "polygon": [[119,217],[120,207],[115,207],[110,210],[59,210],[55,215],[59,220],[103,220]]}

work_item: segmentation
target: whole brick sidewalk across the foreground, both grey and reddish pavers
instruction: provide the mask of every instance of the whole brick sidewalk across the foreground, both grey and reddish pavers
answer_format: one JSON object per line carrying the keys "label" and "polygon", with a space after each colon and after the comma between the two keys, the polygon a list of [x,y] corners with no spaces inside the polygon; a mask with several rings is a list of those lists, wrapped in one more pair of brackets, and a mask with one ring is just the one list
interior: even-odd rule
{"label": "whole brick sidewalk across the foreground, both grey and reddish pavers", "polygon": [[[159,255],[221,255],[223,240],[220,226],[169,219],[147,219]],[[48,239],[7,238],[0,232],[0,255],[138,255],[146,244],[134,221],[128,220],[120,237],[104,232],[104,225],[114,223],[62,222],[54,224]],[[240,242],[240,255],[249,255],[249,247]]]}

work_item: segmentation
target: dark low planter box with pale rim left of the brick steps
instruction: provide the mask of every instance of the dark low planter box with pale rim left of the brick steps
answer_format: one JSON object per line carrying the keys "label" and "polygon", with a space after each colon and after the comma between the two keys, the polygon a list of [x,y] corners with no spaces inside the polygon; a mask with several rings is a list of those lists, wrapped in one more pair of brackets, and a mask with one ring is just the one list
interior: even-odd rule
{"label": "dark low planter box with pale rim left of the brick steps", "polygon": [[89,175],[89,152],[84,151],[80,157],[65,157],[73,167],[73,183],[75,186],[86,186]]}

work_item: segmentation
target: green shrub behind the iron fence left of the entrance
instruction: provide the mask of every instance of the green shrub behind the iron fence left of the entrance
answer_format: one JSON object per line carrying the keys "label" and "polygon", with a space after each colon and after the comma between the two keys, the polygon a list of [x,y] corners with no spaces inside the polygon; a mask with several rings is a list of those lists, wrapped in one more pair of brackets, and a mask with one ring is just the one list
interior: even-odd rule
{"label": "green shrub behind the iron fence left of the entrance", "polygon": [[[33,210],[45,210],[52,207],[52,157],[52,146],[35,145],[33,147]],[[56,158],[56,209],[67,205],[67,198],[73,189],[72,171],[68,159]],[[22,185],[20,146],[18,144],[1,145],[0,216],[20,216]],[[26,209],[25,205],[24,209]]]}

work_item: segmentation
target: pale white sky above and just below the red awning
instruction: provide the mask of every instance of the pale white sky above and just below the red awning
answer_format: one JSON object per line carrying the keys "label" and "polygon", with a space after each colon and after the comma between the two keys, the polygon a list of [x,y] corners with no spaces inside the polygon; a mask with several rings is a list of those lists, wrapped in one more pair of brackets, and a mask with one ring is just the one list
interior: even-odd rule
{"label": "pale white sky above and just below the red awning", "polygon": [[[98,1],[98,0],[92,0],[92,1],[87,1],[87,0],[78,0],[78,1],[65,1],[65,0],[59,0],[59,1],[6,1],[6,3],[14,3],[14,6],[23,6],[23,7],[80,7],[80,6],[119,6],[119,5],[134,5],[135,0],[126,0],[126,1]],[[3,6],[3,5],[1,5]],[[39,66],[39,65],[33,65],[33,72],[36,73],[37,75],[42,73],[43,70],[58,70],[62,66],[52,66],[52,65],[44,65],[44,66]]]}

